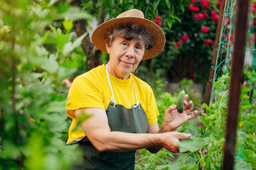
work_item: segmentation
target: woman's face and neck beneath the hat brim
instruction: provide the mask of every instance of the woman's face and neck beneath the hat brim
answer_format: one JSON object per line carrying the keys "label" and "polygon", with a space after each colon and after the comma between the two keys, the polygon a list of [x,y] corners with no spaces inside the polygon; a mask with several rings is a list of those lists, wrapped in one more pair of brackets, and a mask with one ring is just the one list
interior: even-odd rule
{"label": "woman's face and neck beneath the hat brim", "polygon": [[106,41],[107,52],[110,61],[107,64],[108,71],[119,79],[128,79],[130,72],[137,69],[145,52],[143,40],[115,38],[110,46]]}

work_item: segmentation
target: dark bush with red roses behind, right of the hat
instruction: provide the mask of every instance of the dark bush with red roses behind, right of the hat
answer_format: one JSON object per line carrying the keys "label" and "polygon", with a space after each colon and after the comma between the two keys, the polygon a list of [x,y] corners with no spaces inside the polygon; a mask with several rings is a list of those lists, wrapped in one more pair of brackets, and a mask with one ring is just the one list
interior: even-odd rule
{"label": "dark bush with red roses behind, right of the hat", "polygon": [[181,23],[176,22],[170,30],[165,30],[165,49],[170,50],[168,60],[159,58],[164,63],[172,63],[168,70],[170,79],[208,80],[219,5],[219,0],[184,1],[184,11],[177,13]]}

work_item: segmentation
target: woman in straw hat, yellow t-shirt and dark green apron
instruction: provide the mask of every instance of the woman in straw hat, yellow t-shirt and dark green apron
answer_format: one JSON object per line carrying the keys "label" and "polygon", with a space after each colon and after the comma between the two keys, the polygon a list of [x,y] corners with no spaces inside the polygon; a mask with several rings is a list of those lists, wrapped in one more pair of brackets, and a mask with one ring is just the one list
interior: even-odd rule
{"label": "woman in straw hat, yellow t-shirt and dark green apron", "polygon": [[[184,98],[184,111],[165,111],[159,128],[151,87],[132,72],[139,62],[154,57],[164,47],[164,33],[142,11],[132,9],[106,21],[92,33],[92,43],[110,55],[102,64],[75,78],[68,94],[68,116],[73,118],[67,144],[78,143],[84,162],[78,169],[134,169],[134,154],[162,147],[178,152],[177,142],[191,137],[176,128],[194,118],[192,101]],[[82,113],[90,115],[74,130]]]}

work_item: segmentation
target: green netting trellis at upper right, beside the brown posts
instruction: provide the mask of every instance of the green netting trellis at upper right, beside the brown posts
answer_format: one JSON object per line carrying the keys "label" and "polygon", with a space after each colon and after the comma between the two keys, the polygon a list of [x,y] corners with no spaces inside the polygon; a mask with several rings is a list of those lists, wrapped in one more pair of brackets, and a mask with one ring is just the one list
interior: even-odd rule
{"label": "green netting trellis at upper right, beside the brown posts", "polygon": [[[225,8],[225,15],[223,21],[223,27],[220,33],[220,41],[218,44],[218,55],[216,60],[216,66],[212,66],[215,70],[214,78],[210,81],[213,82],[213,89],[210,95],[210,101],[213,100],[215,86],[214,82],[219,80],[221,75],[230,73],[230,64],[233,56],[233,42],[235,32],[235,16],[236,16],[236,1],[227,1]],[[255,1],[252,0],[251,6],[255,5]],[[255,11],[250,8],[248,13],[248,31],[247,42],[245,47],[245,66],[250,65],[256,69],[256,35],[255,35]]]}

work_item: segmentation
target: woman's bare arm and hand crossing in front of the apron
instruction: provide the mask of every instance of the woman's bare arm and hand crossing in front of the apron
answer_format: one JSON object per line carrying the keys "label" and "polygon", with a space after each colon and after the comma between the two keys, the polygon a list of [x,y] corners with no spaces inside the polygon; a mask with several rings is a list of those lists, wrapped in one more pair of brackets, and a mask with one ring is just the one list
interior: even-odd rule
{"label": "woman's bare arm and hand crossing in front of the apron", "polygon": [[83,108],[75,111],[79,119],[82,113],[91,115],[82,122],[84,130],[92,145],[100,152],[125,152],[149,147],[166,147],[171,152],[178,152],[178,140],[188,139],[190,134],[179,132],[166,133],[128,133],[111,132],[107,114],[101,108]]}

